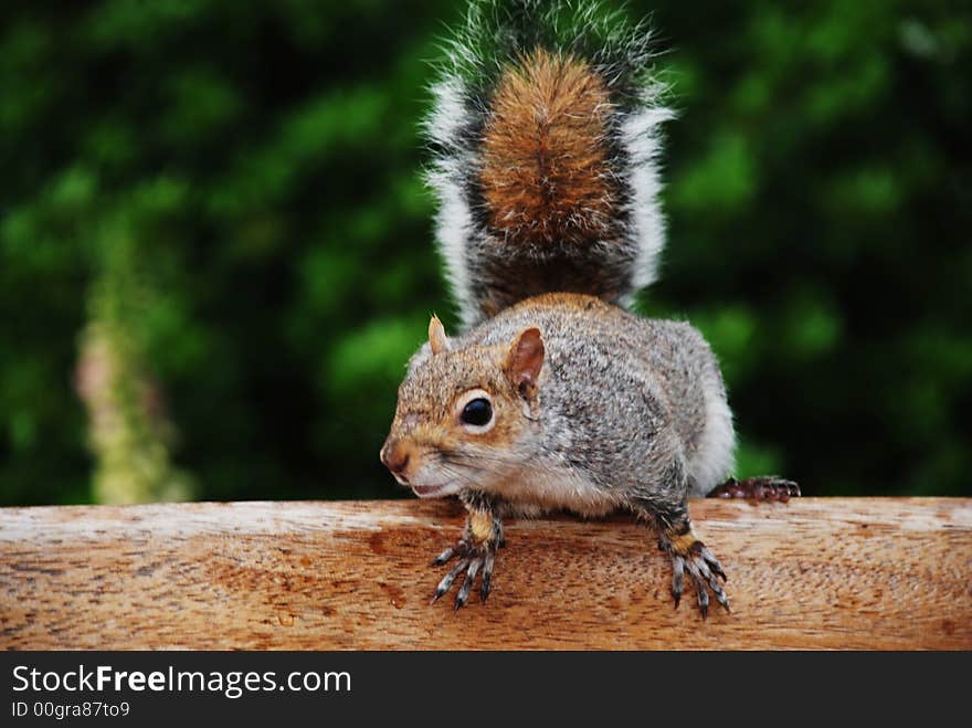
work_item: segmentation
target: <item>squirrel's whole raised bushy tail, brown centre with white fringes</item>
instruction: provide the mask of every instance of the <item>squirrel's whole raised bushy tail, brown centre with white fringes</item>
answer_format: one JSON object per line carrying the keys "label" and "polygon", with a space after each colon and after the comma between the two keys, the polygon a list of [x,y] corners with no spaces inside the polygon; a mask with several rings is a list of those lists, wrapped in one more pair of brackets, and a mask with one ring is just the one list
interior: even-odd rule
{"label": "squirrel's whole raised bushy tail, brown centre with white fringes", "polygon": [[466,326],[527,296],[630,306],[664,244],[649,33],[593,0],[472,0],[425,129]]}

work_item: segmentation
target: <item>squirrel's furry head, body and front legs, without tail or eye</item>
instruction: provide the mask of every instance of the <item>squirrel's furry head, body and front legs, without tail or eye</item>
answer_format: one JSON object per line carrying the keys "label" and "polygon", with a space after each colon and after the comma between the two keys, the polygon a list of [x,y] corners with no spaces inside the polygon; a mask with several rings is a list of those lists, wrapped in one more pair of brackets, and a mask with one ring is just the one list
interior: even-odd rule
{"label": "squirrel's furry head, body and front legs, without tail or eye", "polygon": [[[434,561],[459,559],[433,601],[464,569],[456,609],[480,569],[486,599],[504,515],[626,508],[658,529],[676,606],[687,574],[704,619],[709,591],[729,610],[722,567],[695,537],[687,507],[732,466],[726,390],[698,331],[558,293],[452,340],[435,320],[430,336],[436,352],[425,344],[412,357],[381,456],[418,494],[458,495],[469,513],[463,538]],[[471,398],[490,402],[485,425],[464,423]]]}

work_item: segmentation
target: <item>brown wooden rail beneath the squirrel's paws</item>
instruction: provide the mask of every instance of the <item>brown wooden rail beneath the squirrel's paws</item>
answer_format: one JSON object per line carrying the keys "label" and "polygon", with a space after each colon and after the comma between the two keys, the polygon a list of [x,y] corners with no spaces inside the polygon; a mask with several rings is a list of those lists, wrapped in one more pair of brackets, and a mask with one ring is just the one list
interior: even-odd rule
{"label": "brown wooden rail beneath the squirrel's paws", "polygon": [[631,518],[509,521],[454,612],[454,503],[0,509],[0,647],[972,648],[972,499],[690,508],[729,574],[706,622]]}

